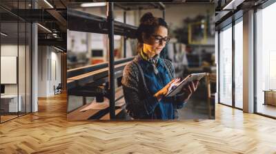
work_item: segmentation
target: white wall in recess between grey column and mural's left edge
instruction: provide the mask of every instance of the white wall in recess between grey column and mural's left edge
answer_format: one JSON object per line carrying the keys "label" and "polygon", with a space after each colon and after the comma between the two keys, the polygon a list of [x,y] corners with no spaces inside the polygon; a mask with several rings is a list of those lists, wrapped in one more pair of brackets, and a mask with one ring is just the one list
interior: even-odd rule
{"label": "white wall in recess between grey column and mural's left edge", "polygon": [[53,47],[39,46],[38,59],[38,97],[53,96],[54,85],[61,83],[61,54]]}

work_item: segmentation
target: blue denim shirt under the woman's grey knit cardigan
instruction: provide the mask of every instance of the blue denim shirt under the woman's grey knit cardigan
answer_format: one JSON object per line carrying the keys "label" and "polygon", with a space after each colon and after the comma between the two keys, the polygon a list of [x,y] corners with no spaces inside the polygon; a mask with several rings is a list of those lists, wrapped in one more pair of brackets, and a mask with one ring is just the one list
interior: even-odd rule
{"label": "blue denim shirt under the woman's grey knit cardigan", "polygon": [[[160,58],[157,61],[157,75],[155,75],[153,67],[148,61],[145,61],[141,58],[138,63],[143,69],[146,85],[152,96],[157,93],[157,91],[165,87],[168,83],[170,83],[170,76]],[[162,99],[159,103],[155,104],[152,118],[161,120],[174,119],[174,104]]]}

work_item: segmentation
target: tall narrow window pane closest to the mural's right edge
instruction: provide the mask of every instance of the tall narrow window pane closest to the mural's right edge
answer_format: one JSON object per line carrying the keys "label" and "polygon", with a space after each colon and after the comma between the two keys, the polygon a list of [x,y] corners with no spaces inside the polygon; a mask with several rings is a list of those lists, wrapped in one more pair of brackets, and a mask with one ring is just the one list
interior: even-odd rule
{"label": "tall narrow window pane closest to the mural's right edge", "polygon": [[219,33],[219,102],[232,105],[232,28]]}

